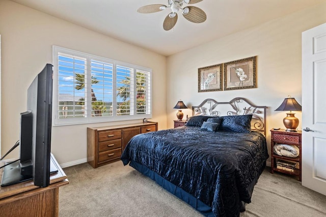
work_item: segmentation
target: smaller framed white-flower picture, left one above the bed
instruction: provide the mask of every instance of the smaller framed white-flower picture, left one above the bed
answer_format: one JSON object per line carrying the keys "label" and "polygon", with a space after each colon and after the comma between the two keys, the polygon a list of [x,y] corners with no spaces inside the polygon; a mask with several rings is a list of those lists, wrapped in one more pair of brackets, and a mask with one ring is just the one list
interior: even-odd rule
{"label": "smaller framed white-flower picture, left one above the bed", "polygon": [[198,69],[198,92],[222,91],[222,64]]}

